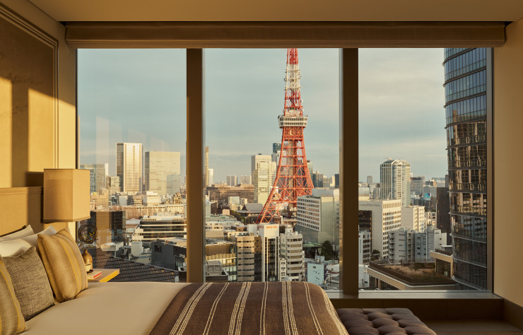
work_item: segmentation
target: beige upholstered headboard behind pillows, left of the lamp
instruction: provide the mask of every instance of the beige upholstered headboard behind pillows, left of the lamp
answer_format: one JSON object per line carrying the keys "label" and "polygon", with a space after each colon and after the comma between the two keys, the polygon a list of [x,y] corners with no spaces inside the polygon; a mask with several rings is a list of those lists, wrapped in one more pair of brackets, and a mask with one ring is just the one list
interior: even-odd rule
{"label": "beige upholstered headboard behind pillows, left of the lamp", "polygon": [[0,235],[31,225],[35,233],[43,229],[42,187],[0,188]]}

